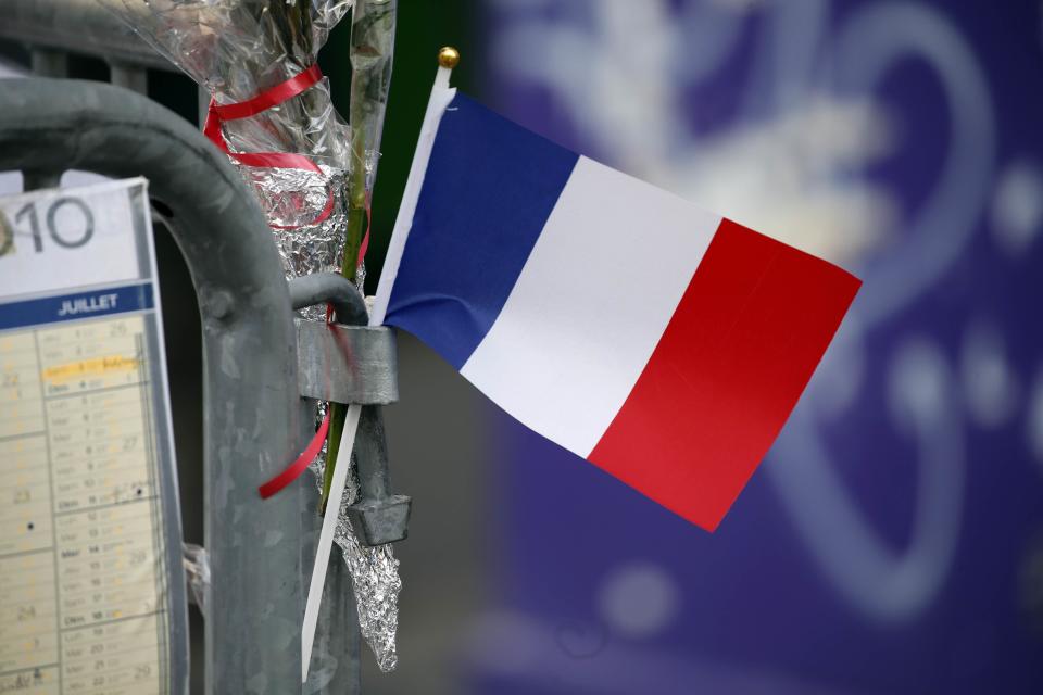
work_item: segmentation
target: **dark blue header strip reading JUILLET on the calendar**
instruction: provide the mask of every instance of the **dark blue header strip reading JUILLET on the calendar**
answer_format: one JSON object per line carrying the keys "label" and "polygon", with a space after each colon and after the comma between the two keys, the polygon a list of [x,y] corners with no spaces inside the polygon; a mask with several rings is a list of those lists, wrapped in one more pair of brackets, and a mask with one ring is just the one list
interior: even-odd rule
{"label": "dark blue header strip reading JUILLET on the calendar", "polygon": [[0,304],[0,330],[152,308],[152,285],[75,292]]}

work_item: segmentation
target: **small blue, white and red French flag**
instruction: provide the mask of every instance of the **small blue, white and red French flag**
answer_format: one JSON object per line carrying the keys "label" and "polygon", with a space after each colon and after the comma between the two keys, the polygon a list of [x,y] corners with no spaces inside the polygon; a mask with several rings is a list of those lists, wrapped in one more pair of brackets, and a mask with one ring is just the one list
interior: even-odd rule
{"label": "small blue, white and red French flag", "polygon": [[860,281],[577,155],[440,75],[372,323],[717,528]]}

